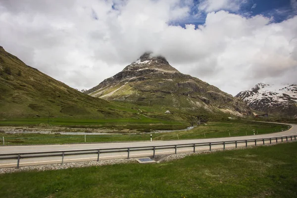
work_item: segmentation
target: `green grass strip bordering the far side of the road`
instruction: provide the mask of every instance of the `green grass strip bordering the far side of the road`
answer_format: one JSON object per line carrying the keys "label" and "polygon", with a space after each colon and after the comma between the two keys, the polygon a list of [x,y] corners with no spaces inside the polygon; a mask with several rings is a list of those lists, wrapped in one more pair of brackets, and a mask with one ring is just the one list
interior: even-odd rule
{"label": "green grass strip bordering the far side of the road", "polygon": [[[135,125],[131,125],[134,126]],[[142,127],[143,125],[138,125]],[[144,127],[153,127],[144,125]],[[172,129],[174,129],[173,127]],[[274,133],[288,129],[287,126],[250,122],[250,121],[224,121],[209,122],[207,125],[199,125],[198,127],[188,131],[175,131],[165,133],[153,133],[153,140],[185,140],[185,139],[202,139],[202,138],[219,138],[230,136],[250,136],[255,134]],[[115,131],[116,132],[116,131]],[[90,133],[91,134],[91,133]],[[205,134],[205,136],[204,136]],[[5,145],[36,145],[36,144],[69,144],[84,143],[84,135],[60,135],[60,134],[5,134],[0,133],[0,137],[4,137]],[[123,141],[149,141],[149,133],[123,134],[123,135],[87,135],[86,143],[96,142],[123,142]]]}

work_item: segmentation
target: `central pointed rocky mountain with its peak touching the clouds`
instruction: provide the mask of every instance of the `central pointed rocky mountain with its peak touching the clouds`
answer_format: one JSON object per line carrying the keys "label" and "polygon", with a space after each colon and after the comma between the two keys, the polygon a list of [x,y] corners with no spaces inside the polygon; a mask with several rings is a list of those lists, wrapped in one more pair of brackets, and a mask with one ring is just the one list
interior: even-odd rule
{"label": "central pointed rocky mountain with its peak touching the clouds", "polygon": [[179,109],[238,116],[251,113],[242,100],[180,73],[165,57],[150,52],[85,93],[101,99],[158,106],[161,111]]}

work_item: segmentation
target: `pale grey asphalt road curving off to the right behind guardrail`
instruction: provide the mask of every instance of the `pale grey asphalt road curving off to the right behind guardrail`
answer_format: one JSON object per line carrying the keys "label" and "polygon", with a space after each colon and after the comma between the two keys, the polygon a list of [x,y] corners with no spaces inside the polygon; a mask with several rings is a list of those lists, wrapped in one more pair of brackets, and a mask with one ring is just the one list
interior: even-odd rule
{"label": "pale grey asphalt road curving off to the right behind guardrail", "polygon": [[[281,123],[280,123],[281,124]],[[79,149],[102,149],[102,148],[132,148],[132,147],[145,147],[145,146],[164,146],[164,145],[181,145],[181,144],[194,144],[194,143],[209,143],[209,142],[223,142],[223,141],[239,141],[239,140],[251,140],[251,139],[263,139],[263,138],[275,138],[283,136],[297,135],[297,125],[293,126],[290,130],[270,133],[264,135],[255,136],[241,136],[241,137],[229,137],[229,138],[212,138],[212,139],[192,139],[192,140],[175,140],[175,141],[153,141],[153,142],[122,142],[122,143],[99,143],[99,144],[73,144],[73,145],[40,145],[40,146],[8,146],[0,147],[0,154],[7,153],[27,153],[27,152],[45,152],[45,151],[65,151],[65,150],[79,150]],[[272,141],[275,142],[275,141]],[[265,144],[268,144],[265,141]],[[263,143],[262,143],[263,144]],[[254,143],[248,143],[248,145],[254,145]],[[246,146],[245,143],[239,143],[238,147]],[[226,148],[235,147],[235,144],[228,144]],[[223,148],[222,145],[212,146],[212,149]],[[208,150],[209,146],[196,147],[196,150]],[[193,147],[178,148],[178,152],[193,151]],[[174,148],[157,149],[155,154],[170,154],[175,153]],[[135,150],[130,152],[130,157],[138,156],[151,156],[152,150]],[[74,161],[88,161],[97,160],[97,154],[83,154],[83,155],[65,155],[64,162]],[[127,157],[127,151],[113,152],[113,153],[101,153],[100,159],[110,158],[124,158]],[[21,159],[20,166],[36,165],[36,164],[49,164],[49,163],[61,163],[61,156],[54,157],[39,157],[39,158],[25,158]],[[0,160],[0,167],[13,167],[16,166],[16,159]]]}

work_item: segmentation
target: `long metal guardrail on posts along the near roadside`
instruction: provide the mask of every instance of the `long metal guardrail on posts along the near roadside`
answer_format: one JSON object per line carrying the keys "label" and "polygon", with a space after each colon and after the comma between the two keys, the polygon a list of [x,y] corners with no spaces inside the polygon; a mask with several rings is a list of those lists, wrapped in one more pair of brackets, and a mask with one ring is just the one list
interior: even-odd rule
{"label": "long metal guardrail on posts along the near roadside", "polygon": [[97,161],[99,161],[100,153],[108,153],[108,152],[127,152],[127,158],[130,157],[131,151],[140,151],[140,150],[152,150],[152,156],[155,157],[155,151],[157,149],[165,149],[165,148],[173,148],[175,149],[175,154],[177,153],[178,148],[187,148],[193,147],[193,152],[196,151],[196,147],[201,146],[209,146],[209,150],[211,151],[211,147],[214,145],[223,145],[223,149],[225,150],[226,145],[235,144],[235,148],[237,148],[239,143],[254,143],[256,146],[258,142],[262,142],[263,145],[265,141],[269,140],[269,144],[271,144],[272,140],[275,140],[276,143],[280,140],[281,142],[286,139],[291,138],[291,141],[296,141],[296,136],[284,136],[284,137],[275,137],[275,138],[261,138],[261,139],[249,139],[249,140],[237,140],[237,141],[221,141],[221,142],[208,142],[208,143],[189,143],[189,144],[175,144],[175,145],[162,145],[162,146],[146,146],[146,147],[129,147],[129,148],[99,148],[99,149],[80,149],[80,150],[64,150],[64,151],[47,151],[47,152],[26,152],[26,153],[8,153],[8,154],[0,154],[0,160],[4,159],[17,159],[17,166],[19,168],[20,159],[23,158],[37,158],[37,157],[50,157],[50,156],[62,156],[61,164],[63,164],[65,155],[80,155],[80,154],[97,154]]}

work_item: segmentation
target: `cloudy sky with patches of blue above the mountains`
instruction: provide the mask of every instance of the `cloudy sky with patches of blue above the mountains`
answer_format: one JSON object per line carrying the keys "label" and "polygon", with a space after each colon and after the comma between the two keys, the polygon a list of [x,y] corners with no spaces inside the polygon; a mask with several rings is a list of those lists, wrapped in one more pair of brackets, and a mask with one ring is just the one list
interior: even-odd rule
{"label": "cloudy sky with patches of blue above the mountains", "polygon": [[0,0],[0,46],[80,90],[150,50],[236,95],[297,84],[297,0]]}

